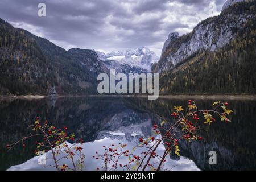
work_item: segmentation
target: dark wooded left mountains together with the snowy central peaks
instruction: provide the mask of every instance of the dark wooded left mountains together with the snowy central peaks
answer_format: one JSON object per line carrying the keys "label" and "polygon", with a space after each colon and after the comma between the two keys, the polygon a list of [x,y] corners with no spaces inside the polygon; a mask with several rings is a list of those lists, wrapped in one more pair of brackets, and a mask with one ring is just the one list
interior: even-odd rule
{"label": "dark wooded left mountains together with the snowy central peaks", "polygon": [[[115,59],[117,56],[122,59]],[[97,94],[100,73],[147,73],[159,59],[146,47],[107,55],[68,51],[0,19],[0,94]]]}

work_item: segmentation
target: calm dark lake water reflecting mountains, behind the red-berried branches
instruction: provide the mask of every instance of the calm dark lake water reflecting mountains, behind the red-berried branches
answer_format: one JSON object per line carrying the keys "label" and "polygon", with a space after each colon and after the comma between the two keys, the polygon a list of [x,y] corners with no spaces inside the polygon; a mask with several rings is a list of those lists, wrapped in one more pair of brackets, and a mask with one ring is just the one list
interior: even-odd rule
{"label": "calm dark lake water reflecting mountains, behind the red-berried branches", "polygon": [[[199,109],[211,109],[215,100],[196,100]],[[232,123],[216,121],[204,127],[201,142],[180,142],[180,158],[167,156],[163,169],[172,170],[248,170],[256,169],[256,101],[228,100],[234,110]],[[85,170],[101,167],[92,158],[102,145],[127,144],[133,148],[142,136],[152,135],[152,125],[162,118],[171,121],[174,106],[186,106],[187,100],[148,101],[134,97],[73,97],[50,100],[0,101],[0,170],[54,170],[38,164],[34,140],[27,147],[7,152],[7,143],[29,135],[27,126],[38,115],[56,128],[68,127],[69,133],[82,138]],[[160,146],[161,153],[164,146]],[[217,165],[209,165],[209,151],[216,151]],[[138,153],[141,151],[138,150]],[[125,159],[123,159],[125,163]],[[65,163],[68,164],[68,161]],[[51,161],[47,160],[47,164]]]}

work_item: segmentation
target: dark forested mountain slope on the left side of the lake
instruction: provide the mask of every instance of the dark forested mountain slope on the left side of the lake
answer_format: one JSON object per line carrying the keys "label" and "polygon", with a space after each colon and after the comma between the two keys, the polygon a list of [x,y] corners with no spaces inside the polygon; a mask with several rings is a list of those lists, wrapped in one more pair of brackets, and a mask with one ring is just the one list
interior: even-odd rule
{"label": "dark forested mountain slope on the left side of the lake", "polygon": [[[90,53],[90,50],[85,50]],[[86,60],[84,60],[86,61]],[[94,63],[100,62],[96,57]],[[47,39],[0,19],[0,94],[90,94],[97,77],[87,64]]]}

